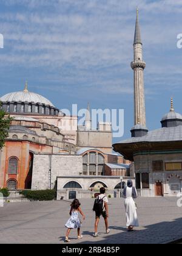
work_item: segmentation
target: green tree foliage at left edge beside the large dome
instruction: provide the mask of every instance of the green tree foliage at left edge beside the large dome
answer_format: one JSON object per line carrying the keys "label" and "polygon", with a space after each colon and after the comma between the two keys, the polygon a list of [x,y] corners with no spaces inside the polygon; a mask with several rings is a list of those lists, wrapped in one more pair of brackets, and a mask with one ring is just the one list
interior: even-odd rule
{"label": "green tree foliage at left edge beside the large dome", "polygon": [[5,139],[8,137],[8,130],[10,129],[10,123],[13,118],[2,109],[0,102],[0,149],[3,148]]}

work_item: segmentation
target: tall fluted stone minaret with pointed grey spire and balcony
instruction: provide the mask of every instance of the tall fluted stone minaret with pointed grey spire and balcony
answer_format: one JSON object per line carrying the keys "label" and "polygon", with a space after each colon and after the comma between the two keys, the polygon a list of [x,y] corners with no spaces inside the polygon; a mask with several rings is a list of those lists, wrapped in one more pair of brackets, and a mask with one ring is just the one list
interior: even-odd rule
{"label": "tall fluted stone minaret with pointed grey spire and balcony", "polygon": [[143,49],[141,43],[140,26],[138,21],[138,7],[136,7],[136,24],[135,24],[135,37],[133,41],[133,62],[131,68],[134,74],[134,127],[133,130],[140,130],[136,135],[132,132],[132,137],[146,135],[146,110],[144,101],[144,68],[146,63],[143,61]]}

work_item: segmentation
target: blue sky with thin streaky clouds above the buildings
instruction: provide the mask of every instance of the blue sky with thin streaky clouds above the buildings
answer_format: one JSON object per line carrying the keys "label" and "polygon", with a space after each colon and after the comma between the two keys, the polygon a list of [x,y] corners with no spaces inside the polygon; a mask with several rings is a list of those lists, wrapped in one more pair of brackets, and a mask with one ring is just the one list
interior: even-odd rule
{"label": "blue sky with thin streaky clouds above the buildings", "polygon": [[24,88],[56,107],[124,108],[133,126],[133,35],[136,5],[143,40],[146,118],[160,127],[170,97],[182,113],[182,0],[1,0],[1,95]]}

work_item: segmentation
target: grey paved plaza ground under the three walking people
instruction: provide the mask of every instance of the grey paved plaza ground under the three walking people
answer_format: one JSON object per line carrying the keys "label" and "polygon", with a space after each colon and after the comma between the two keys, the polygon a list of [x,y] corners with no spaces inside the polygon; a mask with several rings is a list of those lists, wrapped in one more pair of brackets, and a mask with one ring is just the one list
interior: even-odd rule
{"label": "grey paved plaza ground under the three walking people", "polygon": [[[123,199],[110,199],[109,224],[106,235],[104,221],[99,223],[99,236],[93,238],[93,199],[81,200],[87,218],[83,222],[83,240],[76,240],[76,230],[70,233],[72,243],[167,243],[182,238],[182,207],[177,197],[140,197],[138,218],[141,227],[127,232]],[[70,203],[66,201],[9,203],[0,208],[0,243],[64,243]]]}

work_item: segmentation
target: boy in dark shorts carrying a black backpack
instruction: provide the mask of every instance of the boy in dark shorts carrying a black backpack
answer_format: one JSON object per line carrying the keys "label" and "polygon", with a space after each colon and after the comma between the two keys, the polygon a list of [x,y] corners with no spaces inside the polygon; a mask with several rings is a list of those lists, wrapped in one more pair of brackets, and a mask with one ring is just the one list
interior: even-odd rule
{"label": "boy in dark shorts carrying a black backpack", "polygon": [[106,196],[106,190],[105,188],[100,188],[100,194],[95,199],[95,203],[93,205],[93,211],[95,212],[95,233],[93,234],[93,237],[98,236],[98,223],[100,216],[102,215],[105,221],[106,225],[106,233],[110,233],[110,229],[108,228],[108,221],[107,218],[109,218],[109,212],[108,212],[108,198]]}

